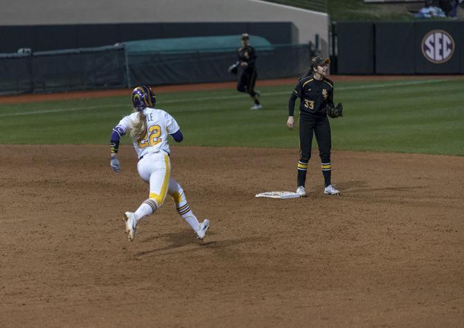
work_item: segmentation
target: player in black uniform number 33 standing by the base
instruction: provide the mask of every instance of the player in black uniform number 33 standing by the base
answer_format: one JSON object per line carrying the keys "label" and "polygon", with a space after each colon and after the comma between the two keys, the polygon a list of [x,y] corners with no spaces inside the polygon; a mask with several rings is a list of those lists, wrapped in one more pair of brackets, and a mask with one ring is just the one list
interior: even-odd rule
{"label": "player in black uniform number 33 standing by the base", "polygon": [[311,69],[307,76],[301,78],[288,104],[287,127],[294,128],[294,106],[296,98],[300,98],[299,137],[300,160],[298,161],[298,182],[296,193],[301,197],[306,196],[305,182],[307,163],[311,157],[312,134],[316,135],[321,157],[321,169],[324,177],[324,193],[338,195],[340,191],[334,189],[330,182],[332,162],[330,162],[330,124],[325,112],[325,107],[334,107],[333,92],[334,83],[325,78],[327,75],[329,59],[315,57],[311,60]]}

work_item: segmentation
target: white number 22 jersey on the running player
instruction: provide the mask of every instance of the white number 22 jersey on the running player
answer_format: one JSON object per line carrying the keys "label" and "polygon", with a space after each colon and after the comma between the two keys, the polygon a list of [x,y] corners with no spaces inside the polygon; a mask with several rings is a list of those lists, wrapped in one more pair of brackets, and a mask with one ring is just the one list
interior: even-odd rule
{"label": "white number 22 jersey on the running player", "polygon": [[[158,153],[160,150],[169,155],[168,135],[177,132],[180,129],[179,124],[164,110],[147,107],[143,110],[143,114],[147,120],[147,135],[139,142],[134,141],[137,157],[141,158],[148,153]],[[138,112],[133,112],[125,116],[116,128],[121,128],[125,135],[132,128],[132,124],[137,121],[137,115]]]}

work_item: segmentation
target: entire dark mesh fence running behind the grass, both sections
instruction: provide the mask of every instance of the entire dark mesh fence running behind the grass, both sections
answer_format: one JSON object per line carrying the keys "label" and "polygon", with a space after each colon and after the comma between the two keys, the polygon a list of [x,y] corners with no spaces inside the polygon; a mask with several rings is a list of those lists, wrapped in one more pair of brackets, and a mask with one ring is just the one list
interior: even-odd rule
{"label": "entire dark mesh fence running behind the grass, both sections", "polygon": [[[289,78],[305,74],[312,49],[282,44],[256,53],[260,78]],[[0,95],[233,81],[227,68],[237,59],[235,49],[134,53],[123,46],[0,54]]]}

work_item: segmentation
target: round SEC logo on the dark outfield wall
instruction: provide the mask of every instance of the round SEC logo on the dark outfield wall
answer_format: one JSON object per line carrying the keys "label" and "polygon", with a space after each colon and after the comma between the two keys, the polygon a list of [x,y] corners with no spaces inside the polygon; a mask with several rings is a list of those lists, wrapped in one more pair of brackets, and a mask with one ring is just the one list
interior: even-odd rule
{"label": "round SEC logo on the dark outfield wall", "polygon": [[442,64],[450,60],[454,53],[453,37],[443,31],[430,31],[422,38],[422,53],[429,62]]}

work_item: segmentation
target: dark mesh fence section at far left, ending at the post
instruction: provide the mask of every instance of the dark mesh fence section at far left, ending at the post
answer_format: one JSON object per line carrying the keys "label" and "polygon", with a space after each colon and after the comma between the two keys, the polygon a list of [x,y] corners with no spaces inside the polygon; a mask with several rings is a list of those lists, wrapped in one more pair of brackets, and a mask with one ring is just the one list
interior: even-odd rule
{"label": "dark mesh fence section at far left, ending at the post", "polygon": [[0,54],[0,94],[127,86],[123,46]]}

